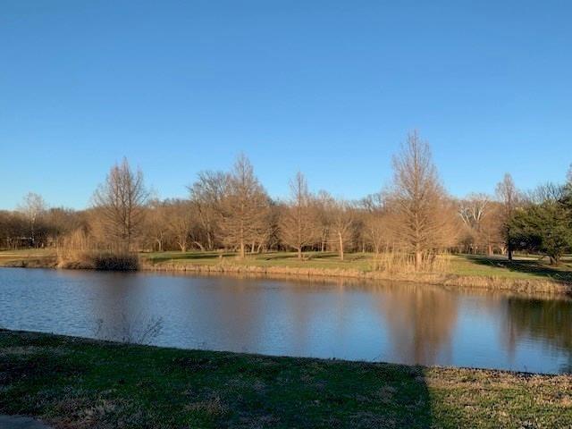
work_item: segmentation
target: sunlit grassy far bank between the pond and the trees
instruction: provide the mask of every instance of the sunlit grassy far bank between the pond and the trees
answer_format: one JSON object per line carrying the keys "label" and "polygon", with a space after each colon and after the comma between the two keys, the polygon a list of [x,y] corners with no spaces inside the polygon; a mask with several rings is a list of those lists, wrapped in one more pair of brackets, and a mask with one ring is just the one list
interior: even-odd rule
{"label": "sunlit grassy far bank between the pond and the trees", "polygon": [[[150,271],[351,277],[527,293],[572,291],[572,257],[554,267],[538,257],[517,257],[509,262],[505,257],[453,255],[446,269],[436,273],[375,270],[374,255],[363,253],[350,254],[345,261],[330,252],[309,252],[302,260],[289,252],[249,255],[245,259],[233,253],[161,252],[141,254],[140,260],[141,268]],[[24,250],[0,252],[0,265],[55,267],[57,261],[55,254],[47,250]]]}

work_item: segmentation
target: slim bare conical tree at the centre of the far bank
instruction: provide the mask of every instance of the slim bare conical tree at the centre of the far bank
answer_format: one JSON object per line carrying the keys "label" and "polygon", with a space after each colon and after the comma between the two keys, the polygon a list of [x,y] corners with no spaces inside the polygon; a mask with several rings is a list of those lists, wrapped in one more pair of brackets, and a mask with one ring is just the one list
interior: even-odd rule
{"label": "slim bare conical tree at the centre of the far bank", "polygon": [[315,242],[315,211],[312,210],[312,197],[307,190],[304,174],[298,172],[290,181],[290,201],[282,211],[280,237],[290,248],[298,251]]}

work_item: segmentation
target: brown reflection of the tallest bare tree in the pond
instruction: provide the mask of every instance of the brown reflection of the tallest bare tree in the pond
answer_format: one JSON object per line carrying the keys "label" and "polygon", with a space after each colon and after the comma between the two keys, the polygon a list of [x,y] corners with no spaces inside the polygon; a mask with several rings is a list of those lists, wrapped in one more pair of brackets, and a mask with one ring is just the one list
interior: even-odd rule
{"label": "brown reflection of the tallest bare tree in the pond", "polygon": [[433,365],[457,322],[457,295],[431,285],[400,284],[383,298],[395,352],[401,362]]}

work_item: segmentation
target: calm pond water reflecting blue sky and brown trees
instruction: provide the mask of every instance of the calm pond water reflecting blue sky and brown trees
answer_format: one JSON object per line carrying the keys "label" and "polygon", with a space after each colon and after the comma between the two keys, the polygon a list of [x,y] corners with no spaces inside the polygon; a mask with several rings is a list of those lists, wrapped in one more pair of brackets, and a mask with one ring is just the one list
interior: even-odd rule
{"label": "calm pond water reflecting blue sky and brown trees", "polygon": [[0,327],[185,349],[572,369],[572,300],[425,284],[3,268]]}

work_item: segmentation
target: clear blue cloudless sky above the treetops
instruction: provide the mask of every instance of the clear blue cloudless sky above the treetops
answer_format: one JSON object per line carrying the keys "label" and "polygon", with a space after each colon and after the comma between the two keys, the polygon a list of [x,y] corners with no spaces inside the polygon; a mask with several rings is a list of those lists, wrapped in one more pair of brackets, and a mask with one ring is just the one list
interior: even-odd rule
{"label": "clear blue cloudless sky above the treetops", "polygon": [[418,130],[450,193],[563,181],[572,2],[0,0],[0,208],[83,208],[126,156],[161,198],[245,153],[361,198]]}

